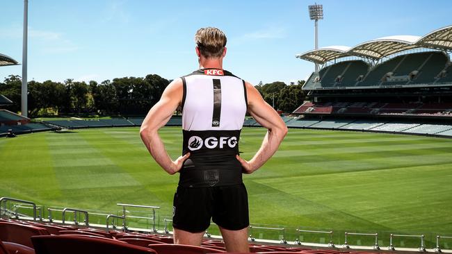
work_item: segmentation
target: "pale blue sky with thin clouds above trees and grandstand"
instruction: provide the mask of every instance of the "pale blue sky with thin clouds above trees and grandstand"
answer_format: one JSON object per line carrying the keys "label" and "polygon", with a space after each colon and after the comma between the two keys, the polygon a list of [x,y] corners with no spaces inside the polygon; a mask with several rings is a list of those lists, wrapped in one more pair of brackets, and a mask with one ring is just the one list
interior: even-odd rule
{"label": "pale blue sky with thin clouds above trees and grandstand", "polygon": [[[223,68],[255,85],[304,80],[314,64],[314,1],[29,0],[28,80],[97,81],[198,68],[194,35],[227,35]],[[390,35],[426,35],[452,24],[450,0],[328,0],[318,45],[355,46]],[[0,53],[22,62],[22,0],[0,0]],[[0,81],[22,66],[0,67]]]}

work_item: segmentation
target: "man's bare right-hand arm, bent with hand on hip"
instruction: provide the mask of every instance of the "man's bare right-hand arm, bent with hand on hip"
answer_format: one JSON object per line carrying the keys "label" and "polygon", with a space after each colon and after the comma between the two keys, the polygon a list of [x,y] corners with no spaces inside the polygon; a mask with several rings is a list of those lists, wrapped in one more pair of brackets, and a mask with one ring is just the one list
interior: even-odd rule
{"label": "man's bare right-hand arm, bent with hand on hip", "polygon": [[242,164],[245,173],[252,173],[259,169],[277,151],[282,139],[287,134],[287,127],[281,117],[268,103],[262,99],[261,94],[250,83],[246,83],[248,96],[248,112],[256,121],[268,129],[261,148],[255,156],[249,160],[243,160],[237,155],[237,160]]}

